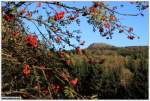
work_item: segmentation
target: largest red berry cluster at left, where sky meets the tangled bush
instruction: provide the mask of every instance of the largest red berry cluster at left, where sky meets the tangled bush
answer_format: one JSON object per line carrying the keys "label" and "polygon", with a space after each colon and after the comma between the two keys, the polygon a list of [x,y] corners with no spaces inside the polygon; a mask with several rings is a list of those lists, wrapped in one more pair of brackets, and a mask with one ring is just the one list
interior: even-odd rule
{"label": "largest red berry cluster at left, where sky meets the tangled bush", "polygon": [[26,42],[28,47],[37,47],[37,37],[33,35],[27,35]]}

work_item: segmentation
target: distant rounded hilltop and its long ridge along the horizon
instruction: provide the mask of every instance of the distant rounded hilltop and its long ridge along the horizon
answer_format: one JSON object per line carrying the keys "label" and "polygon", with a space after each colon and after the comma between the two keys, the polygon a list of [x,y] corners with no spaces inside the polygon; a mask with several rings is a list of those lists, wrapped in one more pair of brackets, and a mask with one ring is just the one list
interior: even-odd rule
{"label": "distant rounded hilltop and its long ridge along the horizon", "polygon": [[132,55],[137,53],[148,55],[148,46],[127,46],[127,47],[116,47],[105,43],[93,43],[88,48],[83,49],[91,53],[91,55],[112,55],[120,54],[123,56]]}

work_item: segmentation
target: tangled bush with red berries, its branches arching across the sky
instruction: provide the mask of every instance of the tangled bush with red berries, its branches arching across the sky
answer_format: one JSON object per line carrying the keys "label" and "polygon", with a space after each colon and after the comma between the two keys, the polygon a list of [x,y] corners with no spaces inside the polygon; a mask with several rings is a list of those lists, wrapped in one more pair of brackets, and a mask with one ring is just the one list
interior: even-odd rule
{"label": "tangled bush with red berries, its branches arching across the sky", "polygon": [[[82,16],[106,39],[116,31],[130,40],[139,39],[117,15],[143,16],[148,4],[129,3],[136,5],[138,14],[122,14],[105,2],[92,2],[90,7],[82,8],[64,2],[2,2],[3,94],[30,99],[86,98],[78,90],[80,78],[69,71],[73,62],[65,51],[68,45],[81,55],[80,46],[86,41],[81,39],[80,30],[69,30],[68,26],[79,26]],[[72,42],[74,39],[78,44]]]}

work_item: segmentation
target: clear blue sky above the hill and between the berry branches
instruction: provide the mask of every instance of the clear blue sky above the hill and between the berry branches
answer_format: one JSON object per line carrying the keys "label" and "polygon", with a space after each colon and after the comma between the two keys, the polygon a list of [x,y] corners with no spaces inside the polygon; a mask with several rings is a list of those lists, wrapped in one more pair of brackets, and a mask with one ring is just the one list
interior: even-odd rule
{"label": "clear blue sky above the hill and between the berry branches", "polygon": [[[137,9],[127,2],[106,2],[106,3],[110,6],[123,4],[124,7],[123,8],[120,7],[118,9],[118,11],[121,13],[131,13],[131,14],[137,13]],[[65,4],[69,6],[75,6],[75,7],[91,6],[91,2],[65,2]],[[30,10],[33,9],[33,6],[31,6],[29,9]],[[60,10],[59,8],[57,8],[57,10],[62,11],[62,9]],[[44,13],[41,12],[41,14]],[[129,40],[127,39],[127,36],[125,34],[114,32],[113,38],[107,40],[105,37],[101,37],[98,31],[93,32],[92,26],[86,22],[86,18],[84,17],[80,17],[81,19],[80,27],[73,24],[71,25],[70,29],[78,28],[81,30],[82,32],[81,37],[83,40],[86,41],[85,45],[82,46],[81,48],[86,48],[92,43],[107,43],[119,47],[148,45],[148,10],[144,11],[144,17],[119,16],[119,15],[116,16],[121,19],[123,25],[133,27],[135,34],[140,36],[140,39]],[[35,29],[35,27],[31,26],[31,29]],[[43,32],[45,32],[43,28],[41,29]],[[37,30],[33,30],[33,31],[38,33]],[[69,47],[67,47],[67,49],[69,49]]]}

